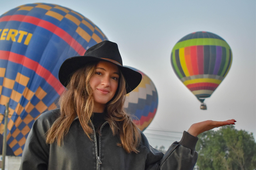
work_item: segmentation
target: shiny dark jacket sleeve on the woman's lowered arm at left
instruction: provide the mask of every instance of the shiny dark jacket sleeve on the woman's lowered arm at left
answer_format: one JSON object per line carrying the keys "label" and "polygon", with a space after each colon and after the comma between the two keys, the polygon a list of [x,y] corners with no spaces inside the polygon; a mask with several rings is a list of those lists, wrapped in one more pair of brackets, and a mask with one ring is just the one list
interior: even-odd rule
{"label": "shiny dark jacket sleeve on the woman's lowered arm at left", "polygon": [[48,117],[54,117],[52,112],[43,113],[34,122],[22,152],[20,170],[47,170],[49,145],[45,133],[51,125]]}

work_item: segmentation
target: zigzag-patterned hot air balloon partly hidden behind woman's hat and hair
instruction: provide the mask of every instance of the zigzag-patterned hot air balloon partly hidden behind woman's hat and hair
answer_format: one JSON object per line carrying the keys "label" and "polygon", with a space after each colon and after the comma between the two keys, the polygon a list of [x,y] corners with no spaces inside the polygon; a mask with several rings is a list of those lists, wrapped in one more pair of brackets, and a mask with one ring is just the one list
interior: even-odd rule
{"label": "zigzag-patterned hot air balloon partly hidden behind woman's hat and hair", "polygon": [[156,114],[158,95],[154,83],[146,74],[136,68],[129,68],[141,73],[142,80],[138,87],[126,95],[124,108],[128,114],[131,114],[133,122],[143,131]]}

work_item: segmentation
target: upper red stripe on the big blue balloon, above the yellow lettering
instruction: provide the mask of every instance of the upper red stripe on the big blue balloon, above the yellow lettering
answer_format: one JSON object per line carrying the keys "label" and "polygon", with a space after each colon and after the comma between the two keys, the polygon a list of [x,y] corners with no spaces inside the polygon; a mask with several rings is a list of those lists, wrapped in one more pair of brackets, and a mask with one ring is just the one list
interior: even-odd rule
{"label": "upper red stripe on the big blue balloon, above the yellow lettering", "polygon": [[79,55],[83,55],[84,52],[86,51],[86,49],[84,49],[84,47],[79,42],[77,42],[75,39],[73,39],[72,36],[69,35],[66,31],[62,30],[61,28],[57,27],[56,25],[54,25],[48,21],[41,20],[36,17],[26,16],[26,15],[4,16],[4,17],[0,18],[0,22],[3,22],[3,21],[20,21],[20,22],[30,23],[30,24],[36,25],[38,27],[42,27],[42,28],[52,32],[53,34],[59,36],[62,40],[67,42],[72,48],[74,48],[74,50]]}

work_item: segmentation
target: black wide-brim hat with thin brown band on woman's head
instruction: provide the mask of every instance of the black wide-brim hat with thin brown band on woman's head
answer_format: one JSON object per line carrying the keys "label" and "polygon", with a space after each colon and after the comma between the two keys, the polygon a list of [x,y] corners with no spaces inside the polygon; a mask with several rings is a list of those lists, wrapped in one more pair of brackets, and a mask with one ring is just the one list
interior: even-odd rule
{"label": "black wide-brim hat with thin brown band on woman's head", "polygon": [[92,61],[108,61],[116,64],[126,81],[126,92],[130,93],[141,82],[142,75],[128,67],[123,66],[122,58],[115,42],[103,41],[85,51],[83,56],[66,59],[59,70],[59,80],[67,87],[72,74]]}

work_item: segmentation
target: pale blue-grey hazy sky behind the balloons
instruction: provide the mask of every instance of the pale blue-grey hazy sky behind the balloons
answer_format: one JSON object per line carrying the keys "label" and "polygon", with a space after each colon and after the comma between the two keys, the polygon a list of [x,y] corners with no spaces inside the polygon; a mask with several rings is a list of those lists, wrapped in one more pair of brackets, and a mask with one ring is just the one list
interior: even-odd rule
{"label": "pale blue-grey hazy sky behind the balloons", "polygon": [[[255,137],[255,0],[1,0],[0,14],[36,2],[58,4],[81,13],[118,44],[124,65],[150,77],[159,98],[155,118],[148,127],[154,130],[144,131],[152,146],[168,147],[172,139],[179,140],[181,133],[167,131],[183,132],[204,120],[235,119],[238,130],[253,132]],[[199,109],[200,102],[176,77],[170,63],[175,43],[196,31],[219,35],[233,53],[229,73],[205,100],[207,110]]]}

